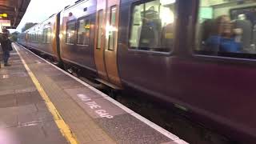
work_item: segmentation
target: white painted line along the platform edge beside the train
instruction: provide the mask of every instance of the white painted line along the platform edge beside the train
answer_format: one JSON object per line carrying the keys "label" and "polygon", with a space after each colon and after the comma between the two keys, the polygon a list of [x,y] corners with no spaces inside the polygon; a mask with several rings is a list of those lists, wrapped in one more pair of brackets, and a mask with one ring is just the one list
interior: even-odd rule
{"label": "white painted line along the platform edge beside the train", "polygon": [[[18,46],[18,43],[15,43]],[[26,47],[23,47],[25,50],[29,51],[30,54],[34,54],[32,51],[26,49]],[[110,98],[108,95],[102,93],[100,90],[95,89],[93,86],[90,86],[89,84],[87,84],[86,82],[83,82],[81,79],[74,77],[74,75],[71,75],[69,73],[67,73],[65,70],[62,70],[61,68],[59,68],[58,66],[55,66],[54,64],[46,61],[45,59],[39,57],[37,54],[34,54],[34,56],[42,59],[42,61],[50,64],[51,66],[54,66],[56,69],[62,71],[62,73],[70,76],[71,78],[74,78],[74,80],[80,82],[83,86],[88,87],[90,90],[93,90],[94,92],[100,94],[103,98],[106,98],[106,100],[114,103],[114,105],[120,107],[122,110],[125,110],[128,114],[131,114],[132,116],[134,116],[134,118],[137,118],[138,120],[140,120],[141,122],[144,122],[146,125],[150,126],[151,128],[153,128],[154,130],[157,130],[159,133],[165,135],[167,138],[170,138],[172,141],[176,142],[177,144],[188,144],[188,142],[183,141],[182,139],[178,138],[178,136],[170,133],[168,130],[165,130],[164,128],[162,128],[161,126],[158,126],[157,124],[155,124],[154,122],[151,122],[150,120],[142,117],[140,114],[137,114],[136,112],[134,112],[133,110],[130,110],[128,107],[123,106],[120,102],[117,102],[116,100],[114,100],[113,98]]]}

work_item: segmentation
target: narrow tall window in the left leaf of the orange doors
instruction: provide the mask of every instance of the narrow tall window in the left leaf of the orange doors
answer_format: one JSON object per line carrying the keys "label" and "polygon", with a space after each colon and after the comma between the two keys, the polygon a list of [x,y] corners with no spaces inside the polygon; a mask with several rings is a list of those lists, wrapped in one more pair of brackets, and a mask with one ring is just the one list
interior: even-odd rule
{"label": "narrow tall window in the left leaf of the orange doors", "polygon": [[103,10],[98,11],[98,33],[97,33],[97,49],[102,45],[102,30],[103,30]]}

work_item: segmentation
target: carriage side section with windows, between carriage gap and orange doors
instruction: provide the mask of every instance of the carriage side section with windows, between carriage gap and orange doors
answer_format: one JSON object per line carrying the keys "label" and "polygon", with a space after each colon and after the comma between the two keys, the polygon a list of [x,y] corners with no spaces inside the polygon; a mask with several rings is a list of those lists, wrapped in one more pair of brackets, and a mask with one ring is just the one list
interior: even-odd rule
{"label": "carriage side section with windows, between carriage gap and orange doors", "polygon": [[94,26],[96,2],[88,0],[67,6],[60,13],[60,56],[62,61],[83,67],[95,75]]}

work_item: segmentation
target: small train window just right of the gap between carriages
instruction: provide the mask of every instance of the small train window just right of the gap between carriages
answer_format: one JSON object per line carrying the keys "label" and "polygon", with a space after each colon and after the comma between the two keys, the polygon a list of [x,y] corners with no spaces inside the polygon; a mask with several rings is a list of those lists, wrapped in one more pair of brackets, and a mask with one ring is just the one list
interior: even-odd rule
{"label": "small train window just right of the gap between carriages", "polygon": [[66,43],[74,44],[75,22],[66,22]]}

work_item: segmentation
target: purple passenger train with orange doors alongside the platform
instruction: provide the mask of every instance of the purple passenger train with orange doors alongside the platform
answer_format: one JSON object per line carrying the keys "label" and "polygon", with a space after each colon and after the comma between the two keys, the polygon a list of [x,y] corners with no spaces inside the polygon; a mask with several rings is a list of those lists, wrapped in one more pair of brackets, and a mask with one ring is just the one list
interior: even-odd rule
{"label": "purple passenger train with orange doors alongside the platform", "polygon": [[79,0],[19,43],[255,143],[255,31],[253,0]]}

